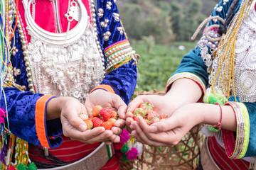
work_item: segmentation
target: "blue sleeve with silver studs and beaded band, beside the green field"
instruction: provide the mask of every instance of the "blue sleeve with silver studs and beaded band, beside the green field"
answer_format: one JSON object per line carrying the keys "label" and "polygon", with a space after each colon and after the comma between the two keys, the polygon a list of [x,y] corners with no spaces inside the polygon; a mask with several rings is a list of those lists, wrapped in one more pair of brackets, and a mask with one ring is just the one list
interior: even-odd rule
{"label": "blue sleeve with silver studs and beaded band, beside the green field", "polygon": [[98,0],[94,24],[101,50],[105,57],[107,74],[95,89],[114,91],[129,103],[137,84],[137,55],[127,40],[115,0]]}

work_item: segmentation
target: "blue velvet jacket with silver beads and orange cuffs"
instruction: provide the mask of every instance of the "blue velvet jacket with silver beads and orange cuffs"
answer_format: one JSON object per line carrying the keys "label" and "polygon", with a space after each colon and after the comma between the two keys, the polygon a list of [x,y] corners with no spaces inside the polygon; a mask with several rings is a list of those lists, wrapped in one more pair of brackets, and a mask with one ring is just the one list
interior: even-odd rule
{"label": "blue velvet jacket with silver beads and orange cuffs", "polygon": [[[87,9],[88,16],[90,16],[90,24],[97,32],[99,42],[97,47],[99,51],[102,50],[100,52],[103,54],[102,58],[104,59],[105,68],[107,68],[107,74],[101,83],[90,89],[112,91],[119,95],[125,103],[129,103],[137,84],[137,61],[124,33],[115,0],[98,0],[95,4],[97,6],[93,5],[93,1],[83,0],[82,2]],[[38,10],[38,8],[40,9],[40,3],[43,2],[36,1],[36,3],[38,3],[36,5],[37,12],[40,11]],[[48,1],[48,3],[52,2]],[[61,1],[59,5],[68,6],[68,1]],[[60,119],[46,121],[47,103],[54,96],[30,92],[33,92],[34,88],[30,85],[31,74],[29,73],[31,70],[27,69],[29,56],[24,52],[28,42],[21,42],[24,36],[29,41],[29,35],[26,35],[25,22],[22,21],[24,20],[24,11],[22,10],[23,4],[21,1],[18,2],[18,8],[18,21],[20,22],[18,22],[14,38],[11,41],[11,47],[15,46],[16,51],[11,56],[9,70],[6,70],[8,72],[6,76],[9,78],[4,80],[7,82],[7,86],[4,87],[4,94],[1,95],[1,108],[8,111],[9,128],[14,135],[34,145],[49,148],[59,147],[63,141],[60,137],[63,133]],[[66,8],[60,8],[60,12],[61,10],[65,14]],[[56,32],[55,23],[50,23],[55,21],[54,13],[50,14],[48,17],[51,17],[51,19],[49,19],[48,25],[41,27],[46,29],[50,27],[50,30]],[[63,18],[60,18],[60,21]],[[62,22],[63,32],[65,32],[68,23],[67,21]],[[14,26],[15,19],[12,27],[14,28]],[[70,30],[74,26],[75,24],[71,23]],[[18,28],[22,28],[23,32]],[[22,35],[24,36],[22,37]],[[15,82],[11,81],[12,78]],[[25,91],[21,91],[21,89],[25,89]]]}

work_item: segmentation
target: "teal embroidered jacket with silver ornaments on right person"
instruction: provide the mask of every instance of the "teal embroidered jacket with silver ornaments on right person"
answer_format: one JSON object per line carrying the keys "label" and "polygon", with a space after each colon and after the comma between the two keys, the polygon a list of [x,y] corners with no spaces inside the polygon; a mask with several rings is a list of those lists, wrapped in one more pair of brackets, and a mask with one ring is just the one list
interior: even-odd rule
{"label": "teal embroidered jacket with silver ornaments on right person", "polygon": [[[225,19],[228,8],[233,1],[220,1],[211,14],[211,16],[219,16]],[[238,13],[242,4],[239,1],[238,7],[233,13]],[[223,143],[225,151],[229,158],[240,159],[242,157],[256,156],[256,135],[255,135],[255,119],[256,119],[256,100],[255,100],[255,79],[256,79],[256,63],[255,60],[255,1],[241,23],[240,30],[238,31],[238,38],[236,40],[235,49],[235,93],[238,101],[235,102],[234,98],[229,98],[226,105],[233,107],[236,115],[237,132],[234,134],[228,130],[222,130]],[[236,18],[235,18],[236,19]],[[232,21],[232,20],[231,20]],[[220,25],[220,21],[213,19],[208,23],[209,26],[213,24]],[[231,24],[232,22],[230,22]],[[229,24],[229,26],[230,26]],[[207,29],[205,29],[207,30]],[[208,30],[210,38],[220,38],[217,28]],[[194,50],[188,52],[183,57],[181,64],[178,66],[176,72],[171,75],[166,90],[171,88],[171,84],[177,79],[187,78],[195,81],[203,93],[210,86],[210,70],[214,67],[218,68],[218,62],[213,57],[213,51],[217,49],[220,41],[213,42],[206,38],[206,32],[203,33],[201,40]],[[252,55],[253,54],[253,55]],[[214,72],[213,72],[214,74]],[[227,79],[224,77],[224,79]]]}

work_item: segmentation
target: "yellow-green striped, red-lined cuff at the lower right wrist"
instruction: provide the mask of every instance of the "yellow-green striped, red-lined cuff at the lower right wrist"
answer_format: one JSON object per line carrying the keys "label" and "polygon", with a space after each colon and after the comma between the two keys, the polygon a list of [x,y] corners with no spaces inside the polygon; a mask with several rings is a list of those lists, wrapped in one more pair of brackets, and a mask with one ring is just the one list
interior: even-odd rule
{"label": "yellow-green striped, red-lined cuff at the lower right wrist", "polygon": [[250,137],[250,120],[247,108],[243,103],[230,101],[225,103],[233,108],[237,123],[236,139],[234,132],[221,130],[225,151],[230,159],[245,157]]}

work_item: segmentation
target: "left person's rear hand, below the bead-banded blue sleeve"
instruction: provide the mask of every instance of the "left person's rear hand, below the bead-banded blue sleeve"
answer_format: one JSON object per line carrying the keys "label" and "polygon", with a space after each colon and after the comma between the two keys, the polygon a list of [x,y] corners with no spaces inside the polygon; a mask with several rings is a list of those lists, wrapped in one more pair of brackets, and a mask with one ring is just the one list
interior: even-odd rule
{"label": "left person's rear hand, below the bead-banded blue sleeve", "polygon": [[[125,126],[125,112],[127,111],[127,105],[124,103],[122,98],[117,94],[112,94],[108,91],[97,89],[87,96],[85,101],[85,107],[87,113],[92,112],[92,108],[96,105],[102,106],[102,108],[110,108],[117,111],[119,116],[118,120],[114,123],[114,127],[110,130],[113,134],[111,140],[105,140],[107,144],[111,142],[119,142],[119,135],[122,134],[122,128]],[[106,130],[108,131],[108,130]]]}

